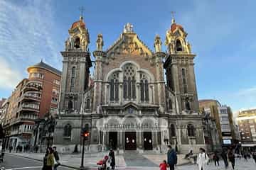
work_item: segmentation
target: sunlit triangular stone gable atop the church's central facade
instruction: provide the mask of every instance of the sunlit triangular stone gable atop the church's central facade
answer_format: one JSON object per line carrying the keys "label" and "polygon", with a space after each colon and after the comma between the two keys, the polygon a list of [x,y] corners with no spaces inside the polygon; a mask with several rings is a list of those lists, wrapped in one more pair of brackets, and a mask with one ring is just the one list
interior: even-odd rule
{"label": "sunlit triangular stone gable atop the church's central facade", "polygon": [[136,33],[122,33],[121,36],[107,50],[107,57],[114,55],[142,55],[145,57],[152,56],[152,52]]}

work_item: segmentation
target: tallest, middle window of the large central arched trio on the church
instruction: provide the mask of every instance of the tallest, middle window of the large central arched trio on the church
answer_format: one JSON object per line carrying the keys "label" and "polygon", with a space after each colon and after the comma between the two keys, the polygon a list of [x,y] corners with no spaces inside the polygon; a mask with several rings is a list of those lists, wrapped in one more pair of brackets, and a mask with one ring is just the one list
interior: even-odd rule
{"label": "tallest, middle window of the large central arched trio on the church", "polygon": [[124,67],[124,100],[136,99],[135,68],[132,64]]}

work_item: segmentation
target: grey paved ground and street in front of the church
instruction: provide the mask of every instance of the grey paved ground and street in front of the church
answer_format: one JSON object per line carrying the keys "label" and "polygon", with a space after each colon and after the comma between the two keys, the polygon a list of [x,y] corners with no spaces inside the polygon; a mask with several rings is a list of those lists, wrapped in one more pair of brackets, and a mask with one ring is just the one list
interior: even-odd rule
{"label": "grey paved ground and street in front of the church", "polygon": [[[60,155],[61,163],[64,166],[71,166],[70,169],[78,169],[80,166],[80,156],[73,154]],[[85,165],[90,166],[90,169],[97,170],[95,162],[100,159],[100,156],[97,154],[85,155]],[[15,161],[14,161],[15,158]],[[196,164],[190,164],[185,162],[183,155],[178,156],[178,166],[176,170],[198,170]],[[155,155],[125,155],[125,156],[116,156],[117,170],[159,170],[159,162],[166,159],[165,154],[155,154]],[[28,169],[40,169],[41,160],[43,160],[43,154],[33,154],[33,153],[23,153],[23,154],[6,154],[5,162],[1,164],[0,167],[6,166],[6,169],[14,168],[11,164],[15,165],[15,168],[27,167]],[[20,164],[17,164],[17,163]],[[28,162],[28,163],[26,163]],[[31,164],[31,168],[29,168]],[[32,166],[33,165],[33,166]],[[72,168],[73,167],[73,168]],[[61,167],[60,169],[68,169],[68,167]],[[220,166],[215,166],[213,162],[210,162],[206,166],[206,170],[224,170],[223,161],[220,160]],[[231,170],[231,166],[228,167],[228,170]],[[248,159],[248,162],[244,162],[243,159],[236,159],[235,169],[239,170],[253,170],[256,169],[256,164],[253,159]]]}

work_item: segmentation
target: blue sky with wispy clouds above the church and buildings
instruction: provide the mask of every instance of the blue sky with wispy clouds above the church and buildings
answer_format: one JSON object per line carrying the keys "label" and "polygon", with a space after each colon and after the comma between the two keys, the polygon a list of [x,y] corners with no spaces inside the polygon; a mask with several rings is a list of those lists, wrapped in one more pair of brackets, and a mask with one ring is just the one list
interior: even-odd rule
{"label": "blue sky with wispy clouds above the church and buildings", "polygon": [[60,51],[68,28],[80,16],[79,6],[85,7],[90,51],[95,50],[97,33],[107,49],[127,22],[153,50],[155,35],[164,42],[171,11],[176,11],[176,23],[185,28],[197,55],[199,98],[218,99],[233,111],[256,106],[253,0],[0,0],[0,98],[8,97],[27,76],[26,67],[41,59],[61,69]]}

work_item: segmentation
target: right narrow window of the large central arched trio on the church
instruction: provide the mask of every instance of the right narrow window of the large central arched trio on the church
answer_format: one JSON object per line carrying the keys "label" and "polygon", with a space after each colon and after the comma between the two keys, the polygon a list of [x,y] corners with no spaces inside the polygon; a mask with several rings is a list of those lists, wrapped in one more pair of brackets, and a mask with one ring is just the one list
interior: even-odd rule
{"label": "right narrow window of the large central arched trio on the church", "polygon": [[149,102],[149,80],[145,74],[140,74],[141,101]]}

